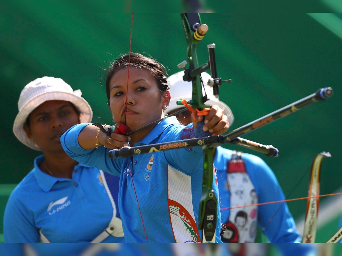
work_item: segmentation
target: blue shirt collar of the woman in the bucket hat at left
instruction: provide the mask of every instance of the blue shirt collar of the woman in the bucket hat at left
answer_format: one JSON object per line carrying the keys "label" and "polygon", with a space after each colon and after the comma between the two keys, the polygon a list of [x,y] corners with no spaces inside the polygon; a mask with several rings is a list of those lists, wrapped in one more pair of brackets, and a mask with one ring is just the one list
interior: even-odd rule
{"label": "blue shirt collar of the woman in the bucket hat at left", "polygon": [[[38,182],[38,185],[43,189],[43,191],[48,192],[51,190],[52,186],[57,182],[57,181],[70,181],[70,179],[66,178],[57,178],[53,177],[49,174],[46,174],[42,170],[39,169],[39,164],[44,160],[44,155],[37,156],[34,160],[34,169],[33,169],[33,174]],[[80,168],[80,167],[87,167],[85,165],[82,165],[81,163],[78,163],[78,165],[75,166],[74,170]]]}

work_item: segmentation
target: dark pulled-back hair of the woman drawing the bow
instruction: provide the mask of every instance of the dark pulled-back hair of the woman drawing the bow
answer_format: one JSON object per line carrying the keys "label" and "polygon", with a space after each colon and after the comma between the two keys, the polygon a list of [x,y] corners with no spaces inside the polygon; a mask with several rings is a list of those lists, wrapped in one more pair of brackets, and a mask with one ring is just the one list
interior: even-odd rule
{"label": "dark pulled-back hair of the woman drawing the bow", "polygon": [[[110,96],[110,80],[116,72],[128,67],[128,59],[129,59],[129,55],[125,54],[117,58],[114,62],[110,63],[110,67],[108,68],[108,72],[105,76],[108,105],[109,105],[109,96]],[[130,63],[130,67],[135,67],[139,69],[147,69],[148,71],[150,71],[150,73],[154,76],[161,93],[163,93],[164,91],[170,88],[166,80],[167,76],[166,76],[165,68],[157,60],[150,58],[150,57],[146,57],[140,53],[131,53],[129,63]]]}

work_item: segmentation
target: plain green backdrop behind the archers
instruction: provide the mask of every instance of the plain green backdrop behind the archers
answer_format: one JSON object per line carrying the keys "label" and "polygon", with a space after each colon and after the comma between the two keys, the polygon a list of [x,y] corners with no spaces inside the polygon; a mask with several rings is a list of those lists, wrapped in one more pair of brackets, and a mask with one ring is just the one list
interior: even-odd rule
{"label": "plain green backdrop behind the archers", "polygon": [[[307,195],[307,170],[312,159],[328,151],[332,158],[323,161],[320,194],[339,189],[342,14],[203,13],[201,19],[209,31],[198,46],[200,64],[208,58],[206,45],[215,43],[218,75],[233,80],[220,88],[220,100],[235,116],[230,130],[315,93],[318,88],[334,90],[333,97],[325,102],[241,136],[274,145],[280,152],[278,158],[238,146],[226,147],[264,159],[287,198]],[[12,132],[22,88],[38,77],[60,77],[75,90],[82,90],[82,96],[92,106],[93,122],[110,124],[105,69],[110,60],[128,53],[130,25],[129,13],[0,14],[0,183],[5,184],[0,191],[0,217],[12,189],[10,184],[20,182],[40,154],[21,144]],[[168,68],[169,75],[178,72],[177,64],[186,54],[179,13],[135,13],[132,52],[153,56]],[[305,200],[288,205],[295,219],[305,213]],[[329,229],[318,235],[317,242],[325,242],[337,230],[338,218],[332,221]]]}

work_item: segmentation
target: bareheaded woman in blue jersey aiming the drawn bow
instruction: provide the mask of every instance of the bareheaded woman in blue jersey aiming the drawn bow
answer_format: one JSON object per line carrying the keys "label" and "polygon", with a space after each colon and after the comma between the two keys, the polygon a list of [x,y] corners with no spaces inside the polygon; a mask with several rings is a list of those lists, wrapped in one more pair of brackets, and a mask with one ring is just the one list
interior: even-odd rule
{"label": "bareheaded woman in blue jersey aiming the drawn bow", "polygon": [[[162,65],[138,53],[123,55],[111,63],[106,75],[106,92],[117,128],[125,123],[130,130],[135,130],[154,122],[165,115],[170,102]],[[202,119],[194,116],[194,126]],[[229,127],[227,117],[218,106],[212,106],[205,123],[203,131],[213,135],[222,134]],[[198,229],[203,171],[201,147],[129,158],[108,157],[110,149],[129,144],[139,146],[180,140],[186,129],[193,129],[193,125],[185,127],[175,117],[170,117],[130,137],[118,133],[108,137],[89,123],[76,125],[61,137],[64,150],[73,159],[120,175],[119,209],[126,242],[201,241]],[[213,189],[218,196],[215,180]],[[218,211],[217,242],[221,242],[220,220]]]}

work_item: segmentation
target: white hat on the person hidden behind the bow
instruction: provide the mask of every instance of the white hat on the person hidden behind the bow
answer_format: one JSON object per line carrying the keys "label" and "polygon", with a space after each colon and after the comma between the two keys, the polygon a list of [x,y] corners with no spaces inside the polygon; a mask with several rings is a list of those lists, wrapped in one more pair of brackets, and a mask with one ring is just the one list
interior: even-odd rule
{"label": "white hat on the person hidden behind the bow", "polygon": [[[177,100],[185,99],[190,100],[192,98],[192,83],[183,80],[184,71],[177,72],[168,77],[168,84],[170,85],[170,95],[171,100],[170,104],[167,108],[167,112],[170,113],[175,109],[182,108],[181,105],[177,105]],[[204,88],[206,90],[208,101],[206,104],[208,105],[218,105],[221,109],[223,109],[224,114],[228,117],[228,123],[231,126],[234,122],[234,116],[232,110],[222,101],[215,98],[213,93],[213,88],[207,84],[208,80],[211,76],[203,72],[201,73],[202,81],[204,84]],[[202,88],[203,90],[203,88]],[[203,92],[204,95],[204,92]]]}

